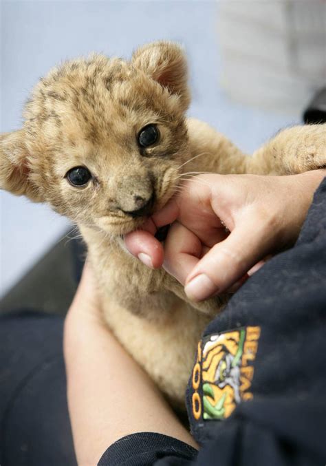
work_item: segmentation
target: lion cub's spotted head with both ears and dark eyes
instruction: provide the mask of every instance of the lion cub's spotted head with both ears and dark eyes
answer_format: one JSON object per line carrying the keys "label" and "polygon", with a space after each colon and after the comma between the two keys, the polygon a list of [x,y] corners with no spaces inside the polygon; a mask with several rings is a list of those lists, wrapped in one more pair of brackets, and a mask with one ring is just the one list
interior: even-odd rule
{"label": "lion cub's spotted head with both ears and dark eyes", "polygon": [[172,43],[129,62],[68,61],[34,88],[23,129],[1,135],[0,187],[78,224],[132,231],[175,191],[188,103],[186,60]]}

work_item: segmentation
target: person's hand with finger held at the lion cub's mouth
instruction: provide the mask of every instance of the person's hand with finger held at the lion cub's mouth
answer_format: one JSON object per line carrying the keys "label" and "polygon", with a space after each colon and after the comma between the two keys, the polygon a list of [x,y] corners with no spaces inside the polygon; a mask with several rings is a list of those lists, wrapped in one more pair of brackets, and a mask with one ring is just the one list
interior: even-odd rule
{"label": "person's hand with finger held at the lion cub's mouth", "polygon": [[[292,176],[202,175],[124,238],[144,264],[165,270],[201,301],[235,286],[263,258],[296,241],[325,170]],[[164,242],[154,234],[171,224]],[[252,269],[253,270],[253,269]]]}

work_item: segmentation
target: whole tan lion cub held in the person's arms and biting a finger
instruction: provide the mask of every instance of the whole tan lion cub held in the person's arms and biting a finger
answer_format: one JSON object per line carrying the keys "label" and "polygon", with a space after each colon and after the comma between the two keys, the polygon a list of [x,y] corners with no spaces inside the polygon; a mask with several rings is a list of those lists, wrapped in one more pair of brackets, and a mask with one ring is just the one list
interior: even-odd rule
{"label": "whole tan lion cub held in the person's arms and biting a finger", "polygon": [[188,120],[189,102],[178,45],[145,45],[131,61],[94,54],[42,78],[23,128],[0,139],[0,187],[47,202],[79,226],[107,324],[175,405],[202,330],[227,296],[189,302],[164,270],[127,253],[122,235],[166,204],[182,173],[290,174],[325,165],[321,125],[286,129],[249,157]]}

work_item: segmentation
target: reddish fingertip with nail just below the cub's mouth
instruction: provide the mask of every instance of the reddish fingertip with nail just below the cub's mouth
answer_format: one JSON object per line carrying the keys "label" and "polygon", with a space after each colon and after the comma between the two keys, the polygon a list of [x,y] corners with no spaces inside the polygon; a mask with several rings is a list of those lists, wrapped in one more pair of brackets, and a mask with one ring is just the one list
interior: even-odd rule
{"label": "reddish fingertip with nail just below the cub's mouth", "polygon": [[146,266],[151,268],[162,266],[163,246],[149,231],[138,230],[128,233],[124,236],[124,244],[129,253],[138,257]]}

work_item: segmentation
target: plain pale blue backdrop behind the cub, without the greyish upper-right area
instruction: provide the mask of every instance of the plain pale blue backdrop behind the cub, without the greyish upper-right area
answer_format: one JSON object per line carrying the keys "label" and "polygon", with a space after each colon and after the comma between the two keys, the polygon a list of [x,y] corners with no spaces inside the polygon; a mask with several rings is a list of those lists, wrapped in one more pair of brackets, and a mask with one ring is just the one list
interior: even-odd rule
{"label": "plain pale blue backdrop behind the cub, without the greyish upper-right area", "polygon": [[[184,44],[188,54],[193,89],[189,114],[253,151],[297,118],[237,105],[221,92],[217,14],[213,1],[2,1],[1,131],[19,128],[30,89],[55,63],[92,51],[129,57],[138,45],[169,39]],[[46,206],[2,193],[0,293],[67,226],[67,220]]]}

